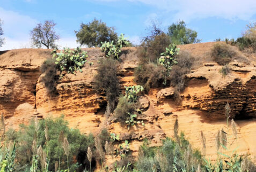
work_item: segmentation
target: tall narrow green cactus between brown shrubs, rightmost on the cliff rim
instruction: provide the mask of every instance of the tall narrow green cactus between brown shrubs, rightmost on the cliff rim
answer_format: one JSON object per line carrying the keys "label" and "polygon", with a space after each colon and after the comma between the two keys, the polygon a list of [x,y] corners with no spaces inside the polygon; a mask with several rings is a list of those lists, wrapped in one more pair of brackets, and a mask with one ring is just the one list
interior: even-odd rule
{"label": "tall narrow green cactus between brown shrubs, rightmost on the cliff rim", "polygon": [[164,77],[164,85],[166,85],[167,77],[170,76],[172,66],[177,64],[176,55],[179,54],[180,48],[177,48],[175,44],[170,44],[169,47],[165,48],[165,52],[160,53],[161,57],[158,59],[159,64],[163,65],[166,69]]}

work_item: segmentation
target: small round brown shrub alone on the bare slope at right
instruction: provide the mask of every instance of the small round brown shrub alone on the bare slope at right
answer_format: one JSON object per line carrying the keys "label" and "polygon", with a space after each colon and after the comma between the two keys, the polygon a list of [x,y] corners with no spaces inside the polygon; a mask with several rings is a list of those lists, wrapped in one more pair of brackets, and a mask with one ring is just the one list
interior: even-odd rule
{"label": "small round brown shrub alone on the bare slope at right", "polygon": [[228,64],[235,55],[236,52],[227,44],[216,43],[211,49],[211,57],[214,58],[214,61],[219,65]]}

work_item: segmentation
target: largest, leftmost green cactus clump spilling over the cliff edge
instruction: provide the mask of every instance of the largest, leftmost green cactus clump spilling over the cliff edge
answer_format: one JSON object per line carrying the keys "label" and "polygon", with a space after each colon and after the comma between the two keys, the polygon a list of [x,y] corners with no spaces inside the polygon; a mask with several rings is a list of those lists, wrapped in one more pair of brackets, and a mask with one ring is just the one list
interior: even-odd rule
{"label": "largest, leftmost green cactus clump spilling over the cliff edge", "polygon": [[67,71],[68,73],[75,74],[77,70],[82,72],[82,67],[87,61],[86,58],[87,52],[82,51],[81,48],[76,48],[70,50],[69,48],[65,49],[64,52],[57,52],[57,50],[52,51],[53,58],[55,58],[55,64],[60,70],[60,79],[62,79],[62,72]]}

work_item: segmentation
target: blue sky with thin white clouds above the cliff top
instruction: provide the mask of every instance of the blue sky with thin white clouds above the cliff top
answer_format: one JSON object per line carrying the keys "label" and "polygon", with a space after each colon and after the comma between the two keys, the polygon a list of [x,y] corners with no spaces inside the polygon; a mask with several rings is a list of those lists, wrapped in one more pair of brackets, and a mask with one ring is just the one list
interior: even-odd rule
{"label": "blue sky with thin white clouds above the cliff top", "polygon": [[38,22],[54,20],[60,48],[74,48],[82,22],[101,19],[134,43],[145,36],[152,20],[163,29],[184,20],[202,42],[237,38],[246,24],[256,21],[255,0],[0,0],[5,44],[0,50],[30,48],[30,30]]}

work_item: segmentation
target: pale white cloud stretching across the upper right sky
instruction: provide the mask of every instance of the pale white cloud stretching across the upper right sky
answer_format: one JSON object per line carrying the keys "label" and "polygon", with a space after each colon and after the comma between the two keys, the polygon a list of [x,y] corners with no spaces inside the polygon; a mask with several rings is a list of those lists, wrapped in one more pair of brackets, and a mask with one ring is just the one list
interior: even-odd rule
{"label": "pale white cloud stretching across the upper right sky", "polygon": [[[117,0],[98,0],[117,1]],[[119,0],[123,1],[123,0]],[[173,21],[219,17],[229,20],[251,20],[256,14],[255,0],[126,0],[141,2],[160,10],[158,13]],[[255,20],[255,19],[254,19]]]}

